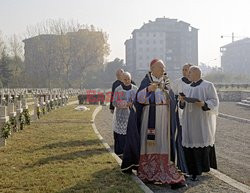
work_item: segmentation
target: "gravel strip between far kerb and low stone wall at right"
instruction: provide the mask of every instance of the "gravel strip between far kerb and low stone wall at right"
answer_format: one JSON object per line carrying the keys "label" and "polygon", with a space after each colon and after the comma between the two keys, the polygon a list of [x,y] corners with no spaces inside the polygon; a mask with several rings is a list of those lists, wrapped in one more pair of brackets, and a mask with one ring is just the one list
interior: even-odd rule
{"label": "gravel strip between far kerb and low stone wall at right", "polygon": [[236,104],[236,102],[220,102],[220,113],[250,119],[250,109]]}

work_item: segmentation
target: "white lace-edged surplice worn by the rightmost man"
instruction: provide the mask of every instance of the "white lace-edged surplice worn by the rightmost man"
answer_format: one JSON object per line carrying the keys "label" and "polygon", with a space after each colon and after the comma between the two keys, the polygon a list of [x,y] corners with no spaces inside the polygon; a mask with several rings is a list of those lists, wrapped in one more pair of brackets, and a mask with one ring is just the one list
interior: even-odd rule
{"label": "white lace-edged surplice worn by the rightmost man", "polygon": [[182,145],[191,148],[213,146],[219,109],[219,99],[213,83],[203,80],[198,86],[189,86],[186,96],[204,101],[210,110],[203,111],[194,103],[185,103]]}

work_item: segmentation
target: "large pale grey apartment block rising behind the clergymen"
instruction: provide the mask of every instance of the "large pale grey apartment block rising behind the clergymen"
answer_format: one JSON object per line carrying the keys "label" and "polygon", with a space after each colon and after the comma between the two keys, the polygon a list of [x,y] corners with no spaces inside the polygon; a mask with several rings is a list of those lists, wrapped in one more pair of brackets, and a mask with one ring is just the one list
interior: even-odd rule
{"label": "large pale grey apartment block rising behind the clergymen", "polygon": [[172,78],[185,63],[198,65],[198,29],[177,19],[157,18],[132,32],[125,42],[126,65],[135,73],[148,71],[152,59],[162,59]]}

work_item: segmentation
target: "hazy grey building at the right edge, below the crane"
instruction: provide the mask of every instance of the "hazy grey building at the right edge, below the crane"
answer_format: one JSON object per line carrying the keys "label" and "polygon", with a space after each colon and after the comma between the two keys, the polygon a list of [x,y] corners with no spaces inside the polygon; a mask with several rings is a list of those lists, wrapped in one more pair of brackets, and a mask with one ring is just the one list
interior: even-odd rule
{"label": "hazy grey building at the right edge, below the crane", "polygon": [[250,38],[238,40],[222,46],[221,67],[230,74],[250,73]]}

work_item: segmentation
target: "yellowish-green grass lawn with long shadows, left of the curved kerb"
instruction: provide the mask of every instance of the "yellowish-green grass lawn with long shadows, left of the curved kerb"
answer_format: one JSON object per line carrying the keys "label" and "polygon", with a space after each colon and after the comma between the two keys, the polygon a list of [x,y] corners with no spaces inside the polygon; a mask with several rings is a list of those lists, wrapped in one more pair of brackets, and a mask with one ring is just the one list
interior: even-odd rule
{"label": "yellowish-green grass lawn with long shadows, left of the curved kerb", "polygon": [[74,107],[43,116],[0,148],[1,193],[142,192],[88,123],[95,106]]}

